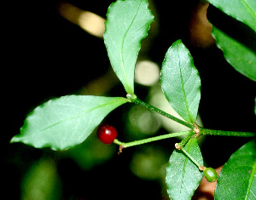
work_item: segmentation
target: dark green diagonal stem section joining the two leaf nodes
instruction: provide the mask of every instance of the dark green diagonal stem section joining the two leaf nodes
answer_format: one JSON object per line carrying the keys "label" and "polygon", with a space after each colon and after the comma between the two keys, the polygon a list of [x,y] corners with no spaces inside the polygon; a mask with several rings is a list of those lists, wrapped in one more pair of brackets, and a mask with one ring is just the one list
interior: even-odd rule
{"label": "dark green diagonal stem section joining the two leaf nodes", "polygon": [[172,119],[173,121],[175,121],[177,123],[183,124],[183,126],[186,126],[189,129],[195,129],[195,126],[193,124],[187,123],[187,122],[185,122],[185,121],[183,121],[183,120],[181,120],[181,119],[179,119],[177,117],[174,117],[174,116],[168,114],[165,111],[162,111],[162,110],[158,109],[157,107],[154,107],[154,106],[151,106],[151,105],[147,104],[143,100],[138,99],[135,94],[127,94],[126,96],[127,96],[127,99],[131,100],[132,103],[135,103],[135,104],[137,104],[139,106],[146,107],[146,108],[148,108],[151,111],[156,111],[160,115],[168,117],[168,118]]}

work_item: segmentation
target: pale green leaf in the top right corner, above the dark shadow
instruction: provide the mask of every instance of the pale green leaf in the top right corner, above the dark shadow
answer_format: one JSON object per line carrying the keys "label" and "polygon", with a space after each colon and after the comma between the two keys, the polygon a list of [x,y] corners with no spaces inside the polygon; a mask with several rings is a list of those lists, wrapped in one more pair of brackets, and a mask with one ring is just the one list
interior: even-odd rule
{"label": "pale green leaf in the top right corner, above the dark shadow", "polygon": [[209,0],[208,2],[256,31],[255,0]]}

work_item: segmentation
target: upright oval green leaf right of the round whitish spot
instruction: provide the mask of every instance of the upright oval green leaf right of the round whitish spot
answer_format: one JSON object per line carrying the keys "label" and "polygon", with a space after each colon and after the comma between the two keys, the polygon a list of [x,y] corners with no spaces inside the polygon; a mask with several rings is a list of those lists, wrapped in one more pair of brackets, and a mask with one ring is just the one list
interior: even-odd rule
{"label": "upright oval green leaf right of the round whitish spot", "polygon": [[195,123],[201,99],[201,79],[181,40],[173,43],[166,53],[161,87],[172,108],[188,123]]}

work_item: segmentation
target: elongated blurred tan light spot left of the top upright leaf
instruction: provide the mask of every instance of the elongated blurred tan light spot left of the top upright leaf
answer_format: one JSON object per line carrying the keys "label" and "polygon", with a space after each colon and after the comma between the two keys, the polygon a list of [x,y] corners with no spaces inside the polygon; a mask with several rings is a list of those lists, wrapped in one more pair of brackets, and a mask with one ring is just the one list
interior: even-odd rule
{"label": "elongated blurred tan light spot left of the top upright leaf", "polygon": [[101,16],[79,9],[70,3],[61,3],[59,12],[62,17],[73,24],[80,26],[84,31],[87,31],[91,35],[103,37],[105,31],[105,19]]}

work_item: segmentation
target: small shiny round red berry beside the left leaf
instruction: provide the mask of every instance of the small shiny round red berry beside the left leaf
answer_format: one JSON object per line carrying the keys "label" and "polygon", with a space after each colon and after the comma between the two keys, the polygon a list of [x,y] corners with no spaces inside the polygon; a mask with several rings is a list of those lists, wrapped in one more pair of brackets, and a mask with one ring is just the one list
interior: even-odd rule
{"label": "small shiny round red berry beside the left leaf", "polygon": [[97,130],[98,138],[106,145],[109,145],[117,137],[118,132],[113,126],[102,123]]}

